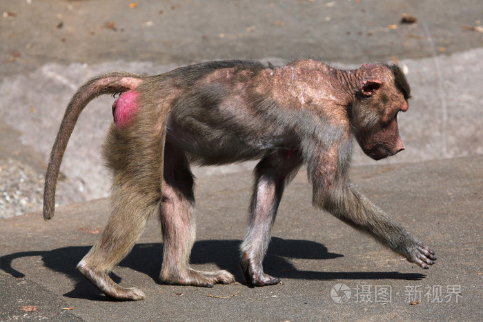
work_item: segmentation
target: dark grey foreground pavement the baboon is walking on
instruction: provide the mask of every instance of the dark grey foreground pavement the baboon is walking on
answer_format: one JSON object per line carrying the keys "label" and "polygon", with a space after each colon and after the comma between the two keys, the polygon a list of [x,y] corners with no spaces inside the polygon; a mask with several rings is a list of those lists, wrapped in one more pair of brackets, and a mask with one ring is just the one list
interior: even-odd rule
{"label": "dark grey foreground pavement the baboon is walking on", "polygon": [[[59,208],[48,223],[40,213],[3,220],[0,320],[23,314],[58,321],[480,320],[483,157],[361,166],[352,177],[362,192],[435,250],[435,265],[422,270],[312,208],[302,172],[280,205],[264,263],[283,284],[249,288],[237,247],[244,236],[251,175],[211,176],[199,180],[191,261],[201,270],[229,270],[239,283],[212,289],[161,284],[161,237],[154,219],[114,270],[116,281],[138,286],[147,299],[108,301],[75,271],[106,222],[108,202],[100,199]],[[351,290],[346,303],[331,298],[339,283]],[[386,290],[386,296],[377,293],[376,298],[376,288]],[[22,312],[27,305],[37,311]]]}

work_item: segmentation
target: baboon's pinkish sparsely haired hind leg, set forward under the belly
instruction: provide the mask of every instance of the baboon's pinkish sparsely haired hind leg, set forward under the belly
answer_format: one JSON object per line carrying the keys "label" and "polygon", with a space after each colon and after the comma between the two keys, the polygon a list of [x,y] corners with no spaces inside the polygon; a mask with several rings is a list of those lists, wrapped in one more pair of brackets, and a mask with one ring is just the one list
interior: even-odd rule
{"label": "baboon's pinkish sparsely haired hind leg, set forward under the belly", "polygon": [[189,266],[195,242],[195,214],[193,205],[193,174],[183,151],[166,143],[164,181],[161,185],[161,230],[164,235],[164,255],[161,280],[172,284],[212,288],[215,283],[228,284],[235,277],[219,270],[201,272]]}

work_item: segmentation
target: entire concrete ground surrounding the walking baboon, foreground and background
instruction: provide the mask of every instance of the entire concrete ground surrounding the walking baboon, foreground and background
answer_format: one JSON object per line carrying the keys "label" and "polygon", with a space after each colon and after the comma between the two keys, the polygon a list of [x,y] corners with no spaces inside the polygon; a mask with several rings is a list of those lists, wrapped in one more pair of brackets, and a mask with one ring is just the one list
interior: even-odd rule
{"label": "entire concrete ground surrounding the walking baboon, foreground and background", "polygon": [[[401,23],[403,13],[417,21]],[[26,0],[2,1],[0,14],[0,321],[481,320],[482,1]],[[211,59],[301,56],[344,68],[398,61],[408,71],[413,98],[398,118],[407,150],[377,163],[358,151],[353,179],[428,243],[437,263],[423,271],[314,210],[301,173],[264,264],[284,284],[248,288],[237,254],[250,194],[245,164],[196,170],[192,262],[228,269],[239,284],[161,284],[155,220],[114,271],[145,301],[108,301],[83,280],[75,265],[108,214],[106,199],[82,201],[108,196],[99,146],[112,98],[79,119],[55,219],[38,212],[48,153],[79,85],[110,70],[159,74]],[[350,299],[336,303],[344,290]]]}

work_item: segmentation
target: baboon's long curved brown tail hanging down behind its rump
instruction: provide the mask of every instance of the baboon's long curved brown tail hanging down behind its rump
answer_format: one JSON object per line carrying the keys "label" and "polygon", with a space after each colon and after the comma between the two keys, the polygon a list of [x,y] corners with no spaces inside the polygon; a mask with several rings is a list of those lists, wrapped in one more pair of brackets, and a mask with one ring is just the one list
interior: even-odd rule
{"label": "baboon's long curved brown tail hanging down behind its rump", "polygon": [[143,77],[128,72],[113,72],[101,74],[82,85],[74,94],[63,115],[62,123],[57,133],[50,161],[46,172],[46,183],[43,190],[43,219],[54,217],[55,188],[59,177],[60,165],[63,153],[66,151],[70,134],[75,128],[75,123],[86,105],[102,94],[116,94],[126,92],[137,87]]}

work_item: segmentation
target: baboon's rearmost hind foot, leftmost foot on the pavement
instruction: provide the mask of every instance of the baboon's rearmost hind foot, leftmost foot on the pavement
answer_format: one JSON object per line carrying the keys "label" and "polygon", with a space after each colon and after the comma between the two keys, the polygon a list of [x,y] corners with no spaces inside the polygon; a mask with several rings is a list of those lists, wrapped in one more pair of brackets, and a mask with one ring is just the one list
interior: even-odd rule
{"label": "baboon's rearmost hind foot, leftmost foot on the pavement", "polygon": [[96,272],[86,265],[86,263],[79,263],[77,269],[86,276],[90,283],[99,288],[101,292],[119,301],[139,301],[144,299],[144,293],[137,288],[121,288],[119,284],[112,281],[107,272]]}

